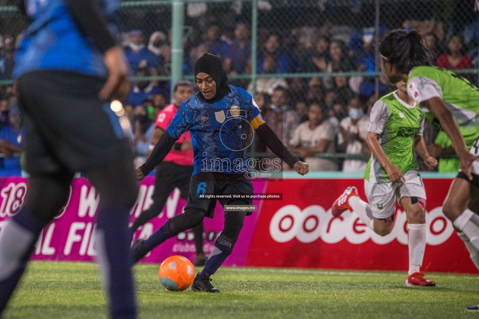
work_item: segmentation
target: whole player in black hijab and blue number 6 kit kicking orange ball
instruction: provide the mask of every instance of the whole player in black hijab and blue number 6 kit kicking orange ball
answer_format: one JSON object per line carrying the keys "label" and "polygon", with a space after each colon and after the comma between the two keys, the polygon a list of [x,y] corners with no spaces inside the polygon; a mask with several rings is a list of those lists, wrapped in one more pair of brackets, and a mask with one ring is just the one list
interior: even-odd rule
{"label": "whole player in black hijab and blue number 6 kit kicking orange ball", "polygon": [[[135,262],[153,248],[198,225],[205,217],[213,217],[214,200],[202,200],[205,193],[253,193],[253,185],[246,165],[245,138],[251,125],[254,132],[279,158],[299,174],[308,173],[308,164],[292,155],[262,119],[256,103],[245,90],[228,85],[228,77],[215,55],[202,55],[194,65],[194,77],[199,92],[183,102],[167,130],[155,145],[147,162],[137,169],[138,179],[143,179],[169,152],[180,135],[190,130],[194,151],[194,172],[184,213],[168,220],[148,240],[134,243]],[[215,163],[214,159],[226,159],[240,163],[233,170],[220,163],[205,170],[203,163]],[[220,200],[222,205],[251,205],[251,200]],[[233,251],[249,212],[225,212],[225,226],[215,241],[215,246],[205,268],[194,278],[192,289],[219,292],[211,285],[210,276],[223,264]]]}

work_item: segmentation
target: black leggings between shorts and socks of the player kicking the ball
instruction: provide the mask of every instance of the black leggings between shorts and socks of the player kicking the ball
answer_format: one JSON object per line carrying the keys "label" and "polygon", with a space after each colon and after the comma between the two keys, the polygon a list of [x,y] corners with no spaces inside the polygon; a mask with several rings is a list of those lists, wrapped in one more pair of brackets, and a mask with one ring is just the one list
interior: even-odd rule
{"label": "black leggings between shorts and socks of the player kicking the ball", "polygon": [[[239,204],[244,204],[244,202]],[[235,205],[235,203],[233,202],[231,205]],[[242,211],[225,212],[225,226],[220,236],[232,245],[234,245],[238,240],[239,232],[243,227],[246,213],[247,212]],[[176,215],[168,221],[169,230],[172,234],[177,235],[182,231],[194,228],[196,225],[202,222],[204,218],[204,210],[187,208],[184,210],[184,213]]]}

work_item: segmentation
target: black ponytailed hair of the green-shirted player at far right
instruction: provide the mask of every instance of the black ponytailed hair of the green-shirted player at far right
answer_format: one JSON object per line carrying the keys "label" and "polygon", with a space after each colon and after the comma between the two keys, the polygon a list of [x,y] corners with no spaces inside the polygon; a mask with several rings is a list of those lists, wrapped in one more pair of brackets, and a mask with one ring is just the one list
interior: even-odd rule
{"label": "black ponytailed hair of the green-shirted player at far right", "polygon": [[402,74],[415,66],[431,66],[431,52],[415,30],[391,31],[379,44],[379,53]]}

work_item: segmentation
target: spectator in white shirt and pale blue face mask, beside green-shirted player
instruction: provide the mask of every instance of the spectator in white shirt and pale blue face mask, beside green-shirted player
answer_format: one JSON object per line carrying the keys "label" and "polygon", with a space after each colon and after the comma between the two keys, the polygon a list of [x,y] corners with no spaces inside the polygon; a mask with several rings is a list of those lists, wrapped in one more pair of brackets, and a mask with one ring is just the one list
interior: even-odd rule
{"label": "spectator in white shirt and pale blue face mask, beside green-shirted player", "polygon": [[[348,116],[339,124],[338,151],[346,154],[371,154],[366,144],[369,117],[364,113],[364,107],[359,98],[354,98],[348,104]],[[363,172],[367,162],[361,160],[345,160],[343,172]]]}

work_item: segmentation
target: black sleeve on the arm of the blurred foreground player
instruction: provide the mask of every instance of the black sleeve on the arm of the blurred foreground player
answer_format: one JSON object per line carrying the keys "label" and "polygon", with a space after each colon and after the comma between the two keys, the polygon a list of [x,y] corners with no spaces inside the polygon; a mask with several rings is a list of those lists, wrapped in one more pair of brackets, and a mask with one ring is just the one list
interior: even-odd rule
{"label": "black sleeve on the arm of the blurred foreground player", "polygon": [[65,0],[65,2],[80,32],[90,37],[102,54],[117,45],[96,0]]}

